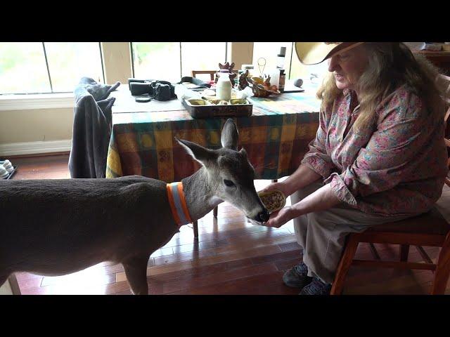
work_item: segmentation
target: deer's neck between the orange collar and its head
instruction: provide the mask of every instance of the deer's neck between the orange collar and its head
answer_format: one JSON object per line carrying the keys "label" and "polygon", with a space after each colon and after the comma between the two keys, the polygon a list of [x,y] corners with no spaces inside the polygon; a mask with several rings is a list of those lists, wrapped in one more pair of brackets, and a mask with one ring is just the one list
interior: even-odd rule
{"label": "deer's neck between the orange collar and its head", "polygon": [[189,214],[193,221],[203,218],[223,200],[214,197],[214,186],[210,183],[206,169],[201,167],[188,178],[181,180]]}

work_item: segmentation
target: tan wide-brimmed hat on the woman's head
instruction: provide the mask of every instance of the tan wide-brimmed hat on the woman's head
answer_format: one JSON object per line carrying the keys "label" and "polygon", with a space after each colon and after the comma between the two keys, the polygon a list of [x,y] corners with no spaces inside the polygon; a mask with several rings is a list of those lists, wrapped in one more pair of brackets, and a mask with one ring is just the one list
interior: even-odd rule
{"label": "tan wide-brimmed hat on the woman's head", "polygon": [[304,65],[316,65],[327,58],[348,51],[364,42],[295,42],[295,52]]}

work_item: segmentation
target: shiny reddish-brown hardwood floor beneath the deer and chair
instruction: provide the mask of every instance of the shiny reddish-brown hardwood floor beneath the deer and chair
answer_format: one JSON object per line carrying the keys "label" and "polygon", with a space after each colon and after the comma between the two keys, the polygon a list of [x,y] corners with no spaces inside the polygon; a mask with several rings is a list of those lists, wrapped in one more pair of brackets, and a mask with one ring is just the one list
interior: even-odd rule
{"label": "shiny reddish-brown hardwood floor beneath the deer and chair", "polygon": [[[18,165],[13,179],[70,178],[68,154],[11,159]],[[257,180],[260,190],[267,180]],[[447,220],[450,189],[444,187],[439,209]],[[251,225],[240,211],[220,204],[217,220],[212,212],[198,221],[199,239],[194,241],[191,225],[181,231],[148,261],[151,294],[274,294],[298,293],[285,286],[283,272],[300,262],[293,223],[278,229]],[[399,258],[398,246],[375,245],[381,258]],[[439,249],[424,247],[435,261]],[[371,258],[366,244],[360,244],[356,258]],[[422,261],[411,248],[411,262]],[[61,277],[16,273],[23,294],[130,294],[122,265],[100,263]],[[345,294],[425,294],[430,291],[432,272],[351,267]],[[450,293],[450,283],[446,293]]]}

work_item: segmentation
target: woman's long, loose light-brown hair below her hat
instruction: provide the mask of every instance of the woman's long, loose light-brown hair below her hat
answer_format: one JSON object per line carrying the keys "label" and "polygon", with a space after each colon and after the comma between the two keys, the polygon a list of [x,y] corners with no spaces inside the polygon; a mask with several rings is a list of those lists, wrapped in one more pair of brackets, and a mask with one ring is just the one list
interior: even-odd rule
{"label": "woman's long, loose light-brown hair below her hat", "polygon": [[[377,107],[387,95],[406,84],[413,93],[424,100],[430,114],[444,120],[444,108],[440,90],[436,84],[437,69],[422,55],[414,56],[410,49],[399,42],[366,42],[368,67],[356,84],[360,113],[354,128],[363,131],[371,128],[376,120]],[[317,92],[322,108],[332,105],[340,95],[333,73],[328,74]]]}

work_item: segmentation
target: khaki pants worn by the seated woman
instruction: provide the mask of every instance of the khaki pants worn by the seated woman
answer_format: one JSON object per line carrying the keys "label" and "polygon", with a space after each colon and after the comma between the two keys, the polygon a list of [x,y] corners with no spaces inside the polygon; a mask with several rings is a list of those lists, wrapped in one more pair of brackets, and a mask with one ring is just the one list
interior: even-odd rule
{"label": "khaki pants worn by the seated woman", "polygon": [[[321,180],[290,196],[296,204],[323,186]],[[338,267],[345,237],[350,232],[363,232],[368,227],[403,220],[409,216],[378,216],[352,209],[345,203],[331,209],[313,212],[293,219],[297,242],[303,248],[303,262],[308,266],[308,276],[319,277],[332,283]]]}

